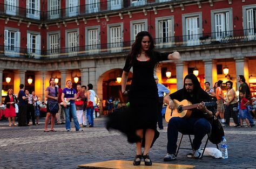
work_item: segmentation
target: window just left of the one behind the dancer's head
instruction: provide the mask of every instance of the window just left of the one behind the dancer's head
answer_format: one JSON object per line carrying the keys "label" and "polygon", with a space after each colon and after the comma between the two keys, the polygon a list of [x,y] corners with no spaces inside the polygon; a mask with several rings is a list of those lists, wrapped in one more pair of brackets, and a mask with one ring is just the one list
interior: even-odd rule
{"label": "window just left of the one behind the dancer's head", "polygon": [[123,50],[123,23],[107,25],[107,43],[111,52]]}

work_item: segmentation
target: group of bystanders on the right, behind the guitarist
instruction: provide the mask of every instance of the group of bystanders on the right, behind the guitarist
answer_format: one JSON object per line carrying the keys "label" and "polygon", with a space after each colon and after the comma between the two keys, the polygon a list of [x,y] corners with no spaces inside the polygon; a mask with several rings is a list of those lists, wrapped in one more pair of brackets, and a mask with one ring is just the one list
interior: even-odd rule
{"label": "group of bystanders on the right, behind the guitarist", "polygon": [[222,80],[216,82],[213,88],[210,88],[209,82],[205,82],[205,91],[212,101],[217,102],[216,116],[220,118],[223,126],[230,126],[232,117],[234,127],[253,127],[255,125],[253,117],[255,117],[256,99],[251,97],[250,88],[245,82],[244,75],[239,75],[237,81],[240,83],[238,96],[233,89],[232,81],[225,83],[227,89],[225,95],[221,89],[223,87]]}

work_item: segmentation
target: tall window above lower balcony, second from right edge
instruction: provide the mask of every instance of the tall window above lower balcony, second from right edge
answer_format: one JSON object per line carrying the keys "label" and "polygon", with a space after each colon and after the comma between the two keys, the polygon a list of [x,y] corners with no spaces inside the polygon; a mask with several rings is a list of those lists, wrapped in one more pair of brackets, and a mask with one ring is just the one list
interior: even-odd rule
{"label": "tall window above lower balcony, second from right edge", "polygon": [[232,9],[219,9],[211,11],[211,22],[212,24],[212,32],[213,38],[215,40],[220,41],[221,43],[225,43],[232,36]]}

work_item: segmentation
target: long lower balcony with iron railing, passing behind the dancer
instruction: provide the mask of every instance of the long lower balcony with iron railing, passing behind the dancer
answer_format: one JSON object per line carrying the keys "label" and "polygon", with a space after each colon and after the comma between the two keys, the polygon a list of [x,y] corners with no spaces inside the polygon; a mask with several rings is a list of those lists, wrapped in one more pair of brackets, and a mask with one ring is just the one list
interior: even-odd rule
{"label": "long lower balcony with iron railing, passing behind the dancer", "polygon": [[[174,36],[157,38],[157,50],[177,47],[214,46],[223,44],[246,43],[256,41],[256,29],[212,32],[194,34],[190,36]],[[26,48],[10,48],[0,46],[0,57],[19,57],[31,59],[54,59],[69,57],[93,57],[95,55],[107,56],[113,53],[129,52],[133,41],[122,43],[94,44],[72,48],[56,48],[54,50],[27,50]]]}

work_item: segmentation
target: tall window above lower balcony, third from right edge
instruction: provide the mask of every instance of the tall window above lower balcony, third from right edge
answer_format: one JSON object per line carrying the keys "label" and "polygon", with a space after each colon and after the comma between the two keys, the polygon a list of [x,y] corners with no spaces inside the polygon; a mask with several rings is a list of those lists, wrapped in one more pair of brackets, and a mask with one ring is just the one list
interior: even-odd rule
{"label": "tall window above lower balcony, third from right edge", "polygon": [[183,21],[183,43],[185,46],[200,45],[202,36],[202,15],[201,13],[190,13],[182,15]]}

